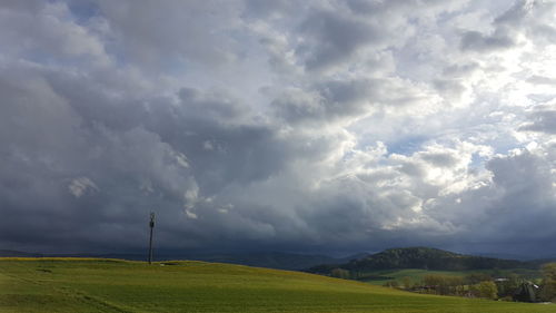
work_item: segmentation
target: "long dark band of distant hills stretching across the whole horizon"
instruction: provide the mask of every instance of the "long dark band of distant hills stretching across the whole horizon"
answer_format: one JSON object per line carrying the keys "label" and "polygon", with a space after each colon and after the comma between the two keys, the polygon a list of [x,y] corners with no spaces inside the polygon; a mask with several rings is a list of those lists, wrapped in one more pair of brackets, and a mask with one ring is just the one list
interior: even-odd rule
{"label": "long dark band of distant hills stretching across the whole horizon", "polygon": [[[112,253],[112,254],[39,254],[19,251],[0,250],[0,256],[17,257],[109,257],[132,261],[146,261],[146,254]],[[485,268],[538,268],[549,260],[522,262],[485,256],[463,255],[429,247],[390,248],[376,254],[356,254],[348,257],[331,257],[318,254],[297,254],[279,252],[238,252],[206,253],[179,251],[155,251],[155,261],[195,260],[268,267],[277,270],[306,271],[309,273],[329,274],[334,268],[345,268],[351,272],[368,272],[394,268],[423,268],[438,271],[465,271]],[[309,270],[307,270],[309,268]]]}

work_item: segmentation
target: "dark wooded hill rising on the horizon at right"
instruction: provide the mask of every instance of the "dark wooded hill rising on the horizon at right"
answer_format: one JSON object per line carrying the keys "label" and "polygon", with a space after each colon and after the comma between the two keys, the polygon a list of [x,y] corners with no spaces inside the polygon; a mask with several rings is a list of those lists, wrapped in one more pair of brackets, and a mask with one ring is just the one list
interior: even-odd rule
{"label": "dark wooded hill rising on the horizon at right", "polygon": [[363,258],[353,260],[342,264],[324,264],[314,266],[307,272],[328,274],[334,268],[344,268],[351,272],[369,272],[394,268],[423,268],[436,271],[467,271],[492,268],[537,268],[534,262],[503,260],[464,255],[449,251],[430,247],[389,248]]}

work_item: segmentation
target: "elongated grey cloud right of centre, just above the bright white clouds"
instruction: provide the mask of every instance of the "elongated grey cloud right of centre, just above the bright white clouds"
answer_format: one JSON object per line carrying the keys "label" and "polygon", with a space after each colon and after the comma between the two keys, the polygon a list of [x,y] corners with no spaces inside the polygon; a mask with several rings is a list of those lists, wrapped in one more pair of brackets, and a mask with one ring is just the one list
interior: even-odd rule
{"label": "elongated grey cloud right of centre, just above the bright white clouds", "polygon": [[[428,104],[425,104],[428,101]],[[311,87],[282,91],[271,106],[288,124],[349,125],[385,110],[435,110],[439,99],[426,86],[399,78],[360,78],[316,81]]]}

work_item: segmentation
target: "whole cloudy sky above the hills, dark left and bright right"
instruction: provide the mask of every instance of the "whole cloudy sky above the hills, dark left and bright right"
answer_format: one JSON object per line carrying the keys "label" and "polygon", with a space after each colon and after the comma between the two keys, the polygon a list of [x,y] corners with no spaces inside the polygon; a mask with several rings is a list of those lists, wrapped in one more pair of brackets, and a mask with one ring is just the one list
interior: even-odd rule
{"label": "whole cloudy sky above the hills, dark left and bright right", "polygon": [[556,251],[556,2],[0,2],[0,248]]}

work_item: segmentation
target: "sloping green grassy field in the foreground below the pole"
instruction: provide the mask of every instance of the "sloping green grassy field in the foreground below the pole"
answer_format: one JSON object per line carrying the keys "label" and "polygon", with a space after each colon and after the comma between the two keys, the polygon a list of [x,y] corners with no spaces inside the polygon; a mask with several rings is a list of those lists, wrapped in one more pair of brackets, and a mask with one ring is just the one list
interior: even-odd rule
{"label": "sloping green grassy field in the foreground below the pole", "polygon": [[203,262],[0,258],[0,312],[556,312]]}

